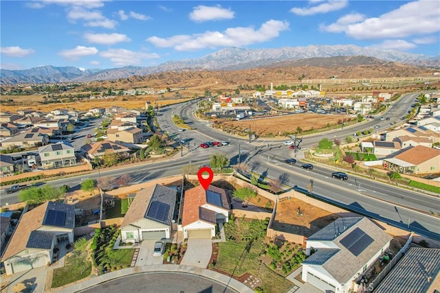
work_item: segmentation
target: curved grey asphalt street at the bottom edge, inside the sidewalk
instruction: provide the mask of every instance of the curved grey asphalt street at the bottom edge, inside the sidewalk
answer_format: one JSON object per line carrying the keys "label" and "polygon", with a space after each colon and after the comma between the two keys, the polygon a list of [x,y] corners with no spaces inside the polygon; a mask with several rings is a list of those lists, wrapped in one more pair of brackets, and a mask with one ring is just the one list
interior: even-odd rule
{"label": "curved grey asphalt street at the bottom edge, inside the sidewalk", "polygon": [[128,277],[113,279],[81,292],[87,293],[120,293],[120,292],[151,292],[151,293],[236,293],[223,283],[213,279],[199,277],[195,274],[179,272],[156,272],[133,274]]}

